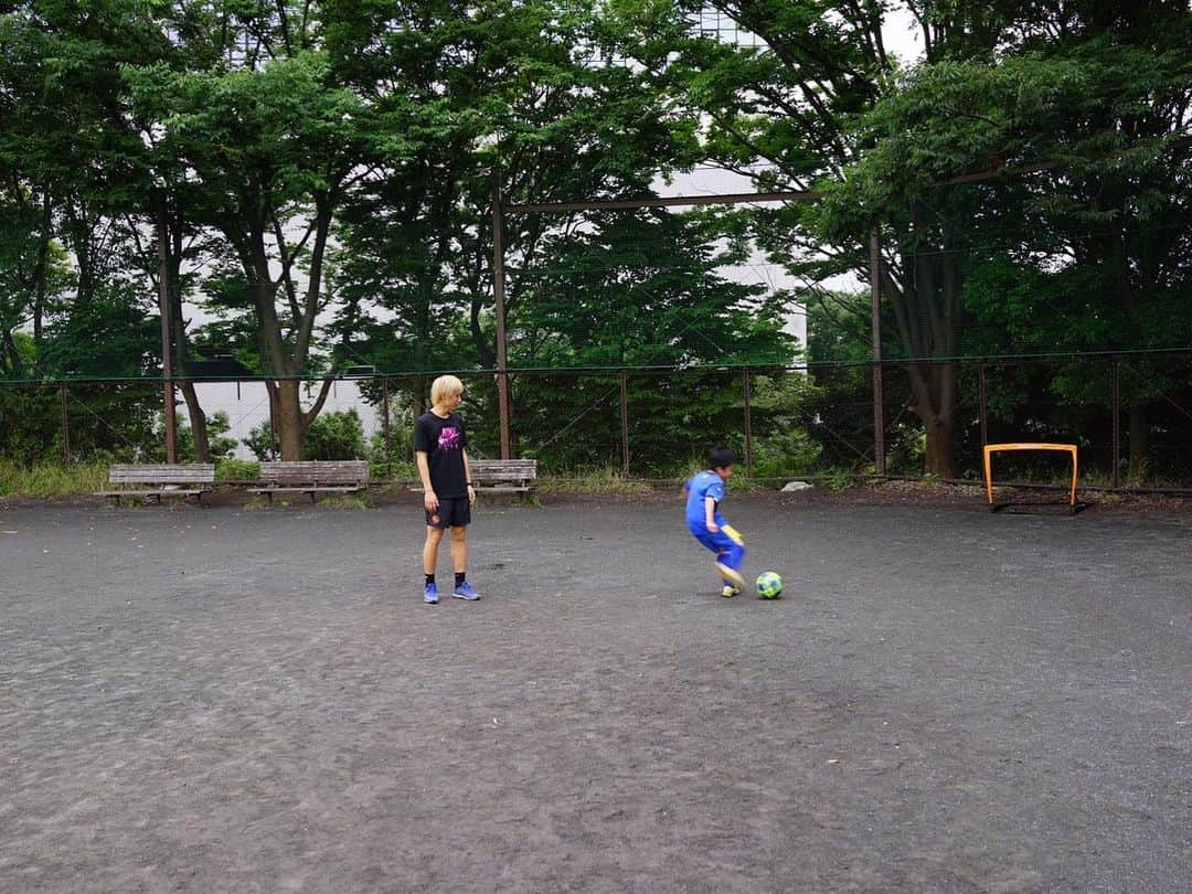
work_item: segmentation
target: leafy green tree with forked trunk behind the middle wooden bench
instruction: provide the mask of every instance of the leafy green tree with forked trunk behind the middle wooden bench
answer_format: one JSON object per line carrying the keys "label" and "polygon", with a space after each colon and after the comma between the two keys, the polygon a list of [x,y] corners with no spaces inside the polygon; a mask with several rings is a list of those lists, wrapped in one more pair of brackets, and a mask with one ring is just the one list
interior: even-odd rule
{"label": "leafy green tree with forked trunk behind the middle wooden bench", "polygon": [[328,244],[368,113],[335,82],[317,14],[309,4],[182,7],[170,30],[187,51],[123,69],[137,113],[193,174],[193,219],[240,265],[247,287],[229,311],[252,321],[285,459],[303,455],[329,389],[303,408],[299,379],[317,372],[316,324],[331,300]]}

